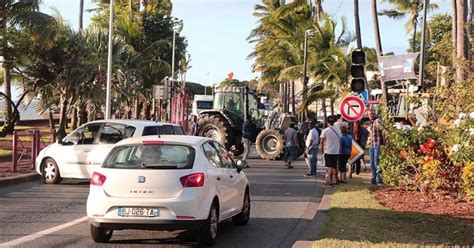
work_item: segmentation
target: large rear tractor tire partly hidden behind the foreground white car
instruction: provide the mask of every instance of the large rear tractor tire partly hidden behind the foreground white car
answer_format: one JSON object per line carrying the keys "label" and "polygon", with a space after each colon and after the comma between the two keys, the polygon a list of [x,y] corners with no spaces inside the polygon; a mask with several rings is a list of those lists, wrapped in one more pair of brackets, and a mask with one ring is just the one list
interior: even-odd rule
{"label": "large rear tractor tire partly hidden behind the foreground white car", "polygon": [[232,128],[226,119],[218,115],[206,115],[198,121],[198,135],[216,140],[229,150],[234,145]]}

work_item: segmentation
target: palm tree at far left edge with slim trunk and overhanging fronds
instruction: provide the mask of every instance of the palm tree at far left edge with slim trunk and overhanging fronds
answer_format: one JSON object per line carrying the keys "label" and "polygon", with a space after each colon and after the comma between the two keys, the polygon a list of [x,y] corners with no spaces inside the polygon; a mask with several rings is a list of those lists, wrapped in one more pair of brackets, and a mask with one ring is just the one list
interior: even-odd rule
{"label": "palm tree at far left edge with slim trunk and overhanging fronds", "polygon": [[[54,19],[39,11],[39,5],[41,0],[31,1],[15,1],[15,0],[0,0],[0,8],[5,10],[5,29],[7,26],[18,26],[22,29],[28,29],[36,31],[37,34],[41,34],[42,39],[47,40],[54,33]],[[6,39],[5,39],[6,38]],[[8,44],[8,37],[4,37],[5,43]],[[3,90],[6,98],[12,97],[11,95],[11,66],[9,63],[9,51],[8,46],[3,54],[4,57],[4,80]],[[10,101],[5,100],[4,107],[4,123],[15,122],[12,120],[12,106]]]}

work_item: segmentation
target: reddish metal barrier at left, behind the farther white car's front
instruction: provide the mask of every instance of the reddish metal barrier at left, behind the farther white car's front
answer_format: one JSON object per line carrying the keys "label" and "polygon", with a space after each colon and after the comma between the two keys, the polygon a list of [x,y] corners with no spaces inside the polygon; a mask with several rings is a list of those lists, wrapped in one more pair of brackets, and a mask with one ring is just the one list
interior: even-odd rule
{"label": "reddish metal barrier at left, behind the farther white car's front", "polygon": [[[51,137],[48,141],[45,137]],[[56,140],[56,133],[41,132],[38,129],[13,132],[12,144],[12,167],[11,171],[16,172],[18,166],[31,166],[35,168],[36,157],[40,150]]]}

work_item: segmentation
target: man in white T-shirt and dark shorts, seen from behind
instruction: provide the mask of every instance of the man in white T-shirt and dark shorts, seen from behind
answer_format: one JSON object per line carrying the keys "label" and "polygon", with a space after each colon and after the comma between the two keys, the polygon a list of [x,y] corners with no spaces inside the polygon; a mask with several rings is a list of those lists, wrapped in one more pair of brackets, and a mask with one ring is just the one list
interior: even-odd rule
{"label": "man in white T-shirt and dark shorts, seen from behind", "polygon": [[331,115],[328,116],[327,120],[328,127],[321,132],[320,149],[321,154],[324,156],[325,166],[328,168],[326,174],[326,185],[331,186],[337,184],[337,162],[339,159],[339,148],[341,138],[341,131],[339,128],[334,127],[336,117]]}

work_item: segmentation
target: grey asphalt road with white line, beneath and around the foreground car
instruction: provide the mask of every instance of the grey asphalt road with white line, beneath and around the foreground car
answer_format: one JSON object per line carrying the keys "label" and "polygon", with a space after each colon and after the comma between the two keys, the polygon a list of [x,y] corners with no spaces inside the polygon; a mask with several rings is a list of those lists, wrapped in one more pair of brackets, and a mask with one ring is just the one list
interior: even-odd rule
{"label": "grey asphalt road with white line, beneath and around the foreground car", "polygon": [[[322,195],[322,175],[305,178],[306,165],[250,159],[251,218],[246,226],[219,225],[215,247],[290,247],[309,225]],[[322,168],[318,168],[321,170]],[[322,174],[320,172],[320,174]],[[0,189],[0,247],[196,247],[187,232],[115,231],[110,244],[89,237],[89,183],[31,182]]]}

